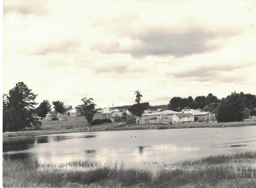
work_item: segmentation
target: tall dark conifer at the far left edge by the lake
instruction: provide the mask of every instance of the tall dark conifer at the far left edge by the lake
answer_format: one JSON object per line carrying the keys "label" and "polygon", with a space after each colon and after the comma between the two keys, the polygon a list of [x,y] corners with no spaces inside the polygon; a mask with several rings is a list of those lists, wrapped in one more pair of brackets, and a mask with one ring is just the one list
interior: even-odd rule
{"label": "tall dark conifer at the far left edge by the lake", "polygon": [[40,124],[33,117],[37,95],[24,82],[18,82],[3,98],[3,131],[20,131]]}

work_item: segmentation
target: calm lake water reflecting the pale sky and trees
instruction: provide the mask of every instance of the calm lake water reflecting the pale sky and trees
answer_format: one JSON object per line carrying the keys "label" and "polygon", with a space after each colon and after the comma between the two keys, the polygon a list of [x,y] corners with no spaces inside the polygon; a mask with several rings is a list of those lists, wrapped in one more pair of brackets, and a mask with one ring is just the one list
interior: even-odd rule
{"label": "calm lake water reflecting the pale sky and trees", "polygon": [[65,133],[3,142],[4,159],[31,158],[41,164],[123,161],[126,168],[245,150],[256,150],[256,126]]}

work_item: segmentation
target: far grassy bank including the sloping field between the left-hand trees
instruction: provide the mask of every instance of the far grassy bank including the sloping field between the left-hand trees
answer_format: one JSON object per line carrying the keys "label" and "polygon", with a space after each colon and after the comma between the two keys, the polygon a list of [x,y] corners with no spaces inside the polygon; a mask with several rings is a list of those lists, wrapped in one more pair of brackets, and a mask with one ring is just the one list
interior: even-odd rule
{"label": "far grassy bank including the sloping field between the left-hand trees", "polygon": [[[87,122],[83,117],[68,118],[67,121],[42,120],[40,131],[19,131],[5,132],[3,139],[19,136],[35,136],[45,134],[59,134],[72,132],[88,132]],[[118,125],[118,126],[117,126]],[[171,129],[171,128],[199,128],[199,127],[240,127],[255,126],[256,122],[226,122],[226,123],[197,123],[197,124],[126,124],[125,122],[115,122],[110,124],[100,124],[90,127],[89,131],[124,131],[124,130],[141,130],[141,129]]]}

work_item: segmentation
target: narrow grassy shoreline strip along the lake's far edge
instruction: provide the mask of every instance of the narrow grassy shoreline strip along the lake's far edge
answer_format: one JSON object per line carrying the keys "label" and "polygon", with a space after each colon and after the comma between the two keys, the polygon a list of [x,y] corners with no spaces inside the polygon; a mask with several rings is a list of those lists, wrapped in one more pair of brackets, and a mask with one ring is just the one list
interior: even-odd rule
{"label": "narrow grassy shoreline strip along the lake's far edge", "polygon": [[[104,125],[112,125],[106,126]],[[128,126],[128,127],[127,127]],[[22,138],[29,136],[41,136],[51,134],[63,134],[63,133],[77,133],[77,132],[106,132],[106,131],[136,131],[136,130],[151,130],[151,129],[181,129],[181,128],[225,128],[225,127],[245,127],[245,126],[256,126],[256,122],[229,122],[219,124],[177,124],[177,125],[165,125],[165,124],[126,124],[116,126],[115,124],[101,124],[89,127],[87,126],[80,129],[42,129],[40,131],[18,131],[18,132],[4,132],[3,142],[13,138]],[[65,127],[64,127],[65,128]]]}

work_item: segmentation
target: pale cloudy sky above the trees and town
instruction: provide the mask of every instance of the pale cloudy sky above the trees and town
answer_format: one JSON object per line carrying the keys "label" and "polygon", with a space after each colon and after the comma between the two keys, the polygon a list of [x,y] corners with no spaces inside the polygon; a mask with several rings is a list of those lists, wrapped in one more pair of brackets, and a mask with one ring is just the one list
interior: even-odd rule
{"label": "pale cloudy sky above the trees and town", "polygon": [[168,104],[256,94],[255,1],[3,1],[3,93]]}

